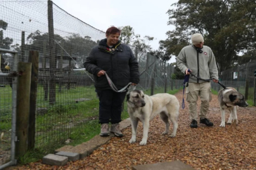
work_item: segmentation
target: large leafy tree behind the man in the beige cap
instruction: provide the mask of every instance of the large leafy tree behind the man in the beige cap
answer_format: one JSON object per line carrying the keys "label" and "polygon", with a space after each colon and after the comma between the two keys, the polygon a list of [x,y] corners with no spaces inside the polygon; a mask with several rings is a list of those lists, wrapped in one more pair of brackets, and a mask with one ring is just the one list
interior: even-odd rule
{"label": "large leafy tree behind the man in the beige cap", "polygon": [[170,54],[177,56],[193,33],[202,33],[222,71],[237,62],[238,53],[256,47],[255,1],[180,0],[172,6],[168,25],[176,30],[168,31],[163,41]]}

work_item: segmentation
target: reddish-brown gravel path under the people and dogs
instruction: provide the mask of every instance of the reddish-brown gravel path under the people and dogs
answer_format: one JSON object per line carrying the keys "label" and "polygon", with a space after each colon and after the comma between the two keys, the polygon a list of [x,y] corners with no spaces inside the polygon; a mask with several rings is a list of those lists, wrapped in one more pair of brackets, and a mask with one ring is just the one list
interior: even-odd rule
{"label": "reddish-brown gravel path under the people and dogs", "polygon": [[[181,105],[182,91],[175,96]],[[227,122],[229,113],[226,113]],[[142,139],[142,123],[139,123],[135,144],[128,142],[131,137],[131,127],[128,127],[121,139],[114,137],[90,156],[68,162],[66,166],[48,166],[39,161],[15,169],[131,169],[135,165],[176,160],[195,169],[256,169],[256,108],[238,108],[238,126],[219,127],[221,113],[217,96],[212,95],[208,118],[214,127],[198,124],[198,128],[190,128],[188,103],[185,103],[185,109],[180,109],[174,138],[161,135],[164,123],[157,116],[150,122],[145,146],[139,145]]]}

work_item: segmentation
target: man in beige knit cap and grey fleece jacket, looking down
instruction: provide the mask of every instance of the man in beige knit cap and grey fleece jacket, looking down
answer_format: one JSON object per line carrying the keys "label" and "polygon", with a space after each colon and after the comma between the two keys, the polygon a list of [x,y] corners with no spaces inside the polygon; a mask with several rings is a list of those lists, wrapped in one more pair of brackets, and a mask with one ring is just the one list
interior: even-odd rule
{"label": "man in beige knit cap and grey fleece jacket, looking down", "polygon": [[[197,76],[190,76],[188,87],[186,88],[186,101],[192,120],[190,127],[197,128],[197,100],[200,97],[202,103],[200,108],[200,123],[212,127],[213,123],[207,119],[209,101],[212,99],[210,82],[202,79],[212,79],[218,82],[218,71],[214,54],[210,47],[204,45],[204,37],[200,33],[195,33],[191,37],[192,45],[182,48],[177,57],[179,69],[186,75],[190,72]],[[190,69],[190,72],[188,72]],[[198,79],[199,78],[199,79]]]}

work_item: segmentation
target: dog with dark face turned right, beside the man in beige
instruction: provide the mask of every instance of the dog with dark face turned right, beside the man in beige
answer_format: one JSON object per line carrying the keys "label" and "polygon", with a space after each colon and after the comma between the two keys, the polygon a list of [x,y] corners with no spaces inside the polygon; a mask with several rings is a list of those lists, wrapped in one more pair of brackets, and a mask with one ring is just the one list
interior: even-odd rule
{"label": "dog with dark face turned right, beside the man in beige", "polygon": [[247,107],[248,103],[245,101],[243,94],[236,91],[234,88],[221,89],[218,94],[219,107],[221,108],[221,125],[225,127],[225,110],[230,111],[228,124],[232,123],[232,120],[238,125],[238,118],[236,115],[236,106]]}

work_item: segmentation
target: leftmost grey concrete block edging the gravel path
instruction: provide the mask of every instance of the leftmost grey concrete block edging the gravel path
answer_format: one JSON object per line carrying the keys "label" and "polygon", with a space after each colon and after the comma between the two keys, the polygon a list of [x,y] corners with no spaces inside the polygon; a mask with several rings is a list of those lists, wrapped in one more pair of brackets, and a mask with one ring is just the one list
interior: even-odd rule
{"label": "leftmost grey concrete block edging the gravel path", "polygon": [[48,154],[44,156],[42,159],[43,164],[56,165],[56,166],[64,166],[68,162],[68,157],[66,156],[57,156],[54,154]]}

